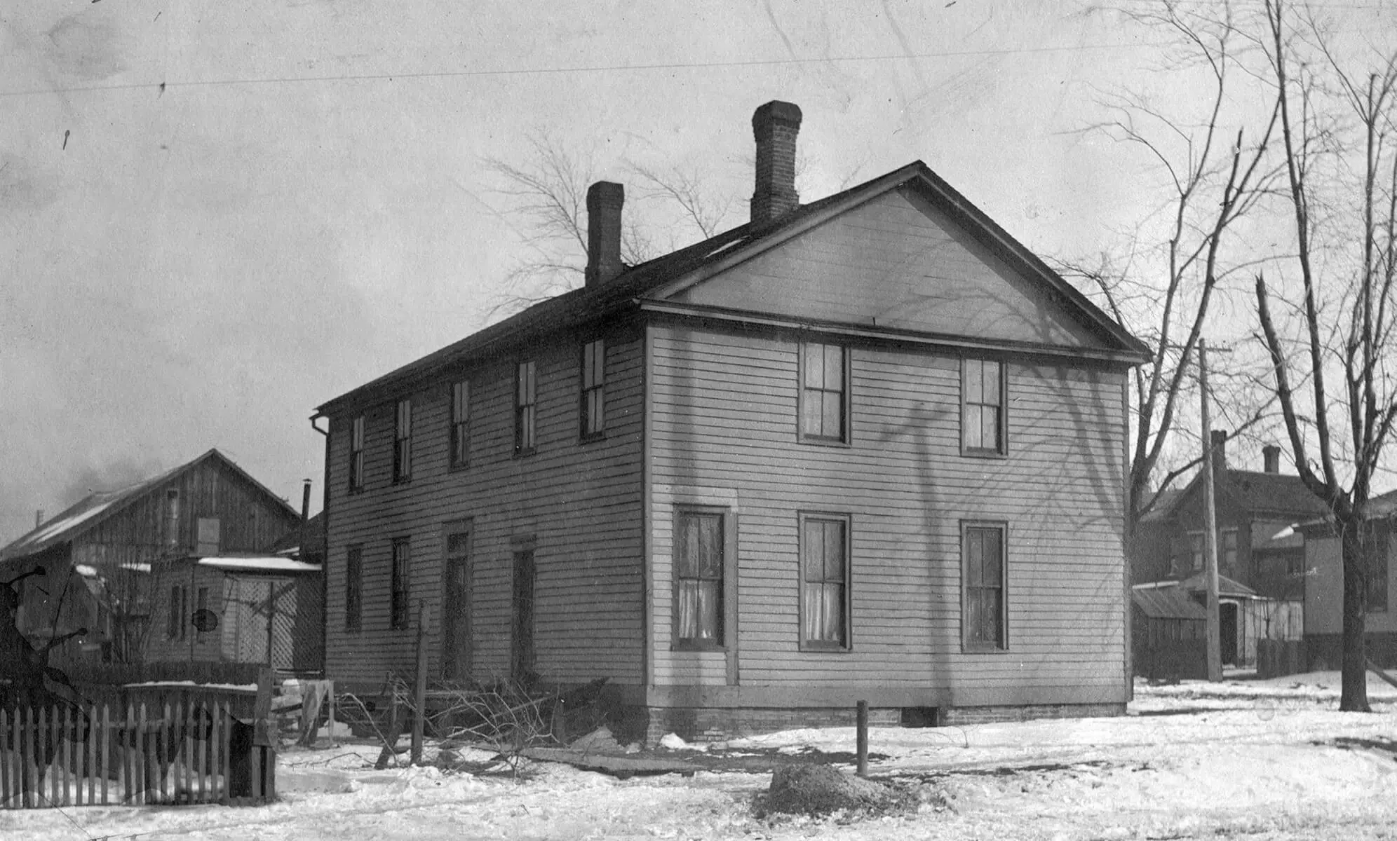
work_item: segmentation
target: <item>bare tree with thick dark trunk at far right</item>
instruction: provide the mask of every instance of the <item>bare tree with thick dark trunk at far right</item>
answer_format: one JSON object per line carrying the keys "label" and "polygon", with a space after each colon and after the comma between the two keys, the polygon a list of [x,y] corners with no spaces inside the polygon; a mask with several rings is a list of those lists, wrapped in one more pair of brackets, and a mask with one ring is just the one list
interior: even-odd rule
{"label": "bare tree with thick dark trunk at far right", "polygon": [[[1340,710],[1366,711],[1363,634],[1376,549],[1368,503],[1397,416],[1387,369],[1397,349],[1397,49],[1354,73],[1312,15],[1266,0],[1266,22],[1301,284],[1289,314],[1299,330],[1282,332],[1287,323],[1273,314],[1271,282],[1260,272],[1256,305],[1301,479],[1329,506],[1341,543]],[[1334,391],[1331,373],[1341,377]]]}

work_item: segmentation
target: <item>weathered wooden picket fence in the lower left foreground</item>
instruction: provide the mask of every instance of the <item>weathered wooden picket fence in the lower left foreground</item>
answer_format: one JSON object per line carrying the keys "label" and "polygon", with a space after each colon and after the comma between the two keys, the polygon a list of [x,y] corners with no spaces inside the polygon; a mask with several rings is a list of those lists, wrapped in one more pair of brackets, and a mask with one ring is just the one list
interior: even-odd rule
{"label": "weathered wooden picket fence in the lower left foreground", "polygon": [[265,803],[264,735],[218,699],[0,708],[0,809]]}

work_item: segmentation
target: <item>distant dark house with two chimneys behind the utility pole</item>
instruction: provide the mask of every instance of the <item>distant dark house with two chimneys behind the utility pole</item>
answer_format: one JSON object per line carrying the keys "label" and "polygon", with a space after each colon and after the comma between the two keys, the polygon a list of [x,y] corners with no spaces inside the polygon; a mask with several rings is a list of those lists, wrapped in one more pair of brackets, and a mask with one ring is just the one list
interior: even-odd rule
{"label": "distant dark house with two chimneys behind the utility pole", "polygon": [[[1280,472],[1280,447],[1263,447],[1261,472],[1235,469],[1227,433],[1213,432],[1222,662],[1256,662],[1259,638],[1299,638],[1305,598],[1303,536],[1295,524],[1324,513],[1299,476]],[[1203,472],[1141,518],[1132,542],[1137,584],[1183,583],[1203,597],[1207,506]]]}

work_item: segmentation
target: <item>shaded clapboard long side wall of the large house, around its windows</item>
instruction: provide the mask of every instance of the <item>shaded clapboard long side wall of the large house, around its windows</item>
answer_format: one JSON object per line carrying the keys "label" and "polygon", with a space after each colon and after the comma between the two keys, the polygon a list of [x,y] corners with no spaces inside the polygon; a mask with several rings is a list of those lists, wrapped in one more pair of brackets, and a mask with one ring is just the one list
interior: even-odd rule
{"label": "shaded clapboard long side wall of the large house, around its windows", "polygon": [[[330,430],[327,672],[377,687],[387,669],[414,666],[418,602],[430,616],[432,672],[440,673],[443,529],[469,521],[468,624],[472,676],[510,666],[513,550],[532,539],[536,671],[550,680],[641,679],[641,394],[643,341],[634,328],[587,334],[606,339],[606,434],[578,440],[584,337],[536,348],[538,447],[514,455],[518,358],[482,362],[412,391],[412,478],[391,482],[394,405],[381,394],[363,408],[365,489],[351,493],[349,425]],[[471,381],[471,461],[450,469],[451,384]],[[411,539],[411,620],[390,629],[390,552]],[[345,627],[345,556],[362,548],[362,620]]]}

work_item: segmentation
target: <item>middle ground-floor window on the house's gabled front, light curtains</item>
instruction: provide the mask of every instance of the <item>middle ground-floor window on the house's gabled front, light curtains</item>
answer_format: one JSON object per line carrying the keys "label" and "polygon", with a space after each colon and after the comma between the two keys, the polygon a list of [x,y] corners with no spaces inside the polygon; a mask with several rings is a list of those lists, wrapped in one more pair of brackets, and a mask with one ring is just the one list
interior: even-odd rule
{"label": "middle ground-floor window on the house's gabled front, light curtains", "polygon": [[800,645],[849,647],[849,520],[800,515]]}

